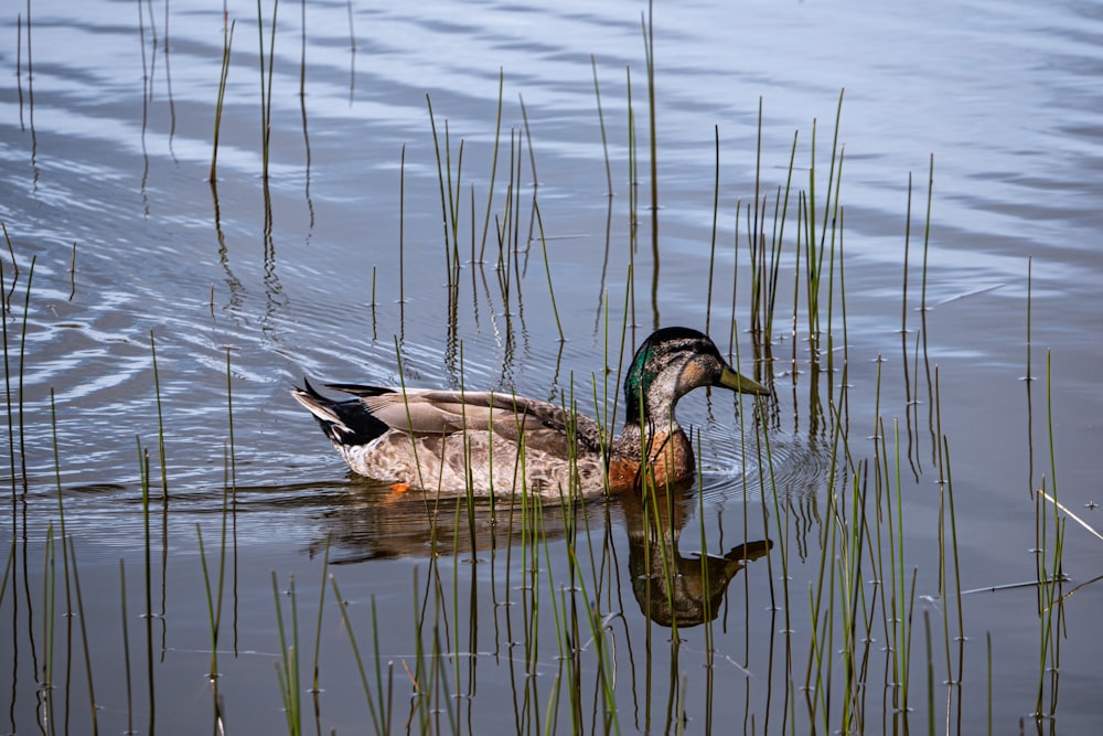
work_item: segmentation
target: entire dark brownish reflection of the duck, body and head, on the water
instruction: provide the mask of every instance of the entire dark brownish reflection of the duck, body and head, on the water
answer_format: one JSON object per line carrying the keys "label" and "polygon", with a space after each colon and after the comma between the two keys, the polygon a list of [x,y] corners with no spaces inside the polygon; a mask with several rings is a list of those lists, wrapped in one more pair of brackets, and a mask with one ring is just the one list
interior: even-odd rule
{"label": "entire dark brownish reflection of the duck, body and head, on the water", "polygon": [[[611,509],[623,514],[628,572],[640,610],[661,626],[692,627],[716,618],[731,579],[770,552],[770,540],[747,542],[724,555],[684,555],[678,548],[694,498],[687,487],[642,498],[547,505],[521,498],[432,499],[396,494],[390,486],[355,482],[330,495],[321,512],[326,536],[311,553],[331,550],[331,562],[349,564],[397,557],[488,557],[508,545],[564,538],[572,530],[600,530]],[[546,501],[546,500],[539,500]]]}

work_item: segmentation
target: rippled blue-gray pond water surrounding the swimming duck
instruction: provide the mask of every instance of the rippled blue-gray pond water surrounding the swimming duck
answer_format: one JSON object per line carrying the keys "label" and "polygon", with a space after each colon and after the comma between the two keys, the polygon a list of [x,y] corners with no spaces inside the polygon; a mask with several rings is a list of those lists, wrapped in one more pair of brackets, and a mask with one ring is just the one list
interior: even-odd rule
{"label": "rippled blue-gray pond water surrounding the swimming duck", "polygon": [[[1103,542],[1069,520],[1057,550],[1031,490],[1101,525],[1100,6],[655,8],[657,247],[646,4],[265,0],[259,31],[257,15],[193,0],[0,15],[0,732],[291,729],[292,606],[310,732],[1099,727]],[[748,205],[758,170],[769,237],[794,134],[772,478],[751,401],[697,392],[678,416],[703,472],[671,508],[446,500],[432,525],[424,500],[351,476],[291,399],[306,374],[607,416],[621,355],[674,324],[726,353],[733,337],[754,370]],[[843,410],[813,410],[812,386],[826,402],[840,381],[810,370],[804,286],[794,302],[797,190],[822,226],[836,135],[845,335],[843,295],[823,299],[846,451],[824,429]],[[864,544],[903,559],[858,568],[869,670],[844,706],[828,611],[845,605],[813,595],[825,558],[849,569],[828,500],[850,476],[833,470],[886,452],[901,502],[878,509],[900,514],[899,546]],[[641,531],[655,514],[673,545]],[[1068,579],[1037,585],[1058,555]],[[664,579],[676,590],[653,595]],[[882,604],[898,591],[903,617]]]}

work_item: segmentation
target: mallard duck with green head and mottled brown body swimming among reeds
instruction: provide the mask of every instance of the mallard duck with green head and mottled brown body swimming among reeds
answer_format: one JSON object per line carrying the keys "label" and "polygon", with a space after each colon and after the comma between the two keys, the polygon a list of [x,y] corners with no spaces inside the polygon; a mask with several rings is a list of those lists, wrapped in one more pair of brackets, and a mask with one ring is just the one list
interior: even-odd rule
{"label": "mallard duck with green head and mottled brown body swimming among reeds", "polygon": [[362,476],[442,493],[512,493],[523,483],[548,497],[636,489],[645,477],[683,483],[695,465],[674,416],[678,398],[698,386],[769,393],[733,371],[707,335],[681,327],[658,330],[635,352],[615,438],[589,417],[510,393],[326,386],[355,398],[326,398],[309,381],[291,395]]}

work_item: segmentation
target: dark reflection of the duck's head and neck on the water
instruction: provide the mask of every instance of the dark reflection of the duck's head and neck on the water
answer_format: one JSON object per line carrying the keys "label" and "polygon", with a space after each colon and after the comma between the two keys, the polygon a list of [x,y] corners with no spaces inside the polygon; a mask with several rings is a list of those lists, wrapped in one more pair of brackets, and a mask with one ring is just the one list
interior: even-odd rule
{"label": "dark reflection of the duck's head and neck on the water", "polygon": [[722,556],[683,555],[678,537],[693,503],[686,490],[620,498],[632,593],[644,616],[665,627],[693,627],[715,619],[731,579],[773,546],[770,540],[759,540]]}

